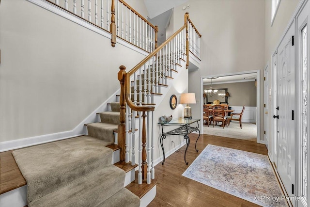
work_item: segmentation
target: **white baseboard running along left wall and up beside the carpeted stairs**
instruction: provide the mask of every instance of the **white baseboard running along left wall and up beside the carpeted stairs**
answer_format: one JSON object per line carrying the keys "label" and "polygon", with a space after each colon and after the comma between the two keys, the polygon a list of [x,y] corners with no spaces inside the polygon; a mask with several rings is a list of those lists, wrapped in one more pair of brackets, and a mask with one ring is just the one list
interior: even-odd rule
{"label": "white baseboard running along left wall and up beside the carpeted stairs", "polygon": [[96,113],[101,111],[108,111],[109,108],[107,106],[107,103],[116,101],[116,95],[119,93],[120,89],[117,90],[114,94],[112,94],[105,102],[103,102],[97,109],[95,109],[89,116],[87,116],[83,121],[81,121],[77,127],[72,130],[1,142],[0,152],[85,135],[86,127],[84,126],[84,124],[97,122]]}

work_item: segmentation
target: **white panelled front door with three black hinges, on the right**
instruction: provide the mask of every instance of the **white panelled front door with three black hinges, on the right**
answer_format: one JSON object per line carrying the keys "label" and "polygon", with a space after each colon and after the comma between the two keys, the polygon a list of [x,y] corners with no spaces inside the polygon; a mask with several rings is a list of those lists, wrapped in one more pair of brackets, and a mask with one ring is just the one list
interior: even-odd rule
{"label": "white panelled front door with three black hinges, on the right", "polygon": [[[295,193],[295,43],[293,22],[278,47],[277,170],[288,195]],[[294,205],[294,202],[292,202]]]}

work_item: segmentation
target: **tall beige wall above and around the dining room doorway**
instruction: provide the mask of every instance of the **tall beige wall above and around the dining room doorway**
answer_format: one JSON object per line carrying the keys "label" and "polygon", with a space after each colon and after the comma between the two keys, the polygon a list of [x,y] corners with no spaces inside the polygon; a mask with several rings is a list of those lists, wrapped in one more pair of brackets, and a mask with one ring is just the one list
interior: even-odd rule
{"label": "tall beige wall above and around the dining room doorway", "polygon": [[[182,7],[188,3],[190,7],[183,10]],[[263,74],[264,1],[189,0],[186,4],[174,8],[173,27],[174,30],[179,29],[184,24],[185,12],[188,12],[190,19],[202,34],[201,67],[190,72],[188,80],[188,91],[194,92],[196,99],[202,96],[201,77],[252,70],[261,70]],[[262,101],[261,105],[263,111]],[[202,103],[192,107],[195,117],[200,117],[201,107]],[[261,120],[263,134],[263,119]]]}

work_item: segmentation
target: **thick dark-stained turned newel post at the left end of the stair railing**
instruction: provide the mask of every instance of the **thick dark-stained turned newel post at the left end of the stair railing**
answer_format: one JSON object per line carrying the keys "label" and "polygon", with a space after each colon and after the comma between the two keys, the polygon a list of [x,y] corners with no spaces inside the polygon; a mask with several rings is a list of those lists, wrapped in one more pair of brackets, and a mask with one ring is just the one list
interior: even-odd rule
{"label": "thick dark-stained turned newel post at the left end of the stair railing", "polygon": [[121,84],[121,95],[120,95],[120,124],[117,127],[117,145],[121,147],[120,152],[120,161],[125,160],[125,142],[126,142],[126,134],[125,134],[125,88],[124,88],[124,74],[126,74],[125,71],[126,67],[124,65],[120,66],[120,71],[117,74],[118,80]]}

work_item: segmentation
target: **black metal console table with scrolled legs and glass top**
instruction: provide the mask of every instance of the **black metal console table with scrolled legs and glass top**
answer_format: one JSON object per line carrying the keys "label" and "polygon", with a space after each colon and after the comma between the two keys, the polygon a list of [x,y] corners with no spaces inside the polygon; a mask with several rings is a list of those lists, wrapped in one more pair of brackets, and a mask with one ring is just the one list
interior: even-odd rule
{"label": "black metal console table with scrolled legs and glass top", "polygon": [[[195,143],[195,149],[198,152],[198,149],[196,148],[196,144],[197,144],[197,141],[200,137],[200,130],[198,129],[200,120],[201,119],[189,119],[189,118],[181,117],[181,118],[177,118],[177,119],[172,119],[169,123],[162,122],[162,121],[158,122],[158,124],[160,124],[162,126],[162,135],[160,137],[160,145],[161,145],[161,148],[163,150],[164,160],[161,162],[161,164],[164,164],[164,162],[165,162],[165,150],[164,150],[164,145],[163,145],[163,139],[166,139],[166,136],[169,136],[169,135],[181,135],[181,136],[184,136],[184,139],[186,139],[187,146],[186,146],[186,150],[184,153],[184,161],[185,161],[186,165],[188,165],[188,162],[186,162],[186,152],[187,152],[187,148],[189,146],[188,134],[192,133],[193,131],[199,132],[199,136],[198,136],[196,143]],[[197,123],[197,127],[189,126],[191,124],[194,124],[195,122]],[[180,126],[180,127],[175,128],[175,129],[168,131],[168,132],[164,132],[164,126]]]}

